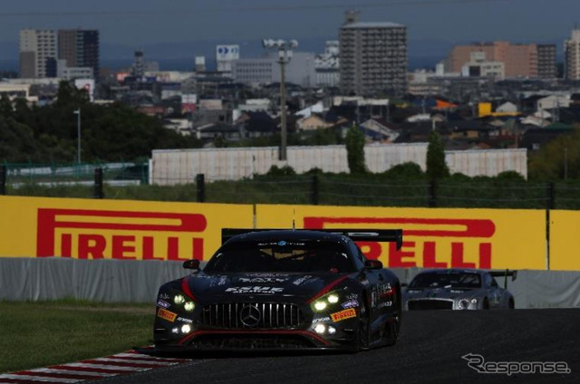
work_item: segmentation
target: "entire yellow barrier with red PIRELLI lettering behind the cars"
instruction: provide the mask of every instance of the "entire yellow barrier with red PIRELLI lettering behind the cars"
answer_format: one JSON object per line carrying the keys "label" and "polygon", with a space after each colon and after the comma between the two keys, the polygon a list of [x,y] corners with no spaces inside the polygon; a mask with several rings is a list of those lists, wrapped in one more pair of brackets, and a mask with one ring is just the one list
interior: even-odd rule
{"label": "entire yellow barrier with red PIRELLI lettering behind the cars", "polygon": [[[580,212],[551,211],[549,268],[580,270]],[[403,246],[360,243],[390,267],[547,266],[546,211],[161,203],[0,197],[0,257],[208,259],[230,228],[402,228]]]}

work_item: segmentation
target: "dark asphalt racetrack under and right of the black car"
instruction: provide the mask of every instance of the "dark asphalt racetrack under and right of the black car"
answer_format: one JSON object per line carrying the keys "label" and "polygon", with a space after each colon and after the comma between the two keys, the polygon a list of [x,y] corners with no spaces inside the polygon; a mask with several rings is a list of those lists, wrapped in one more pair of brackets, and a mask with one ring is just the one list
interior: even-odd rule
{"label": "dark asphalt racetrack under and right of the black car", "polygon": [[[478,373],[461,358],[469,353],[486,362],[565,361],[571,373]],[[578,383],[580,309],[403,312],[401,335],[393,347],[356,354],[218,353],[191,358],[176,367],[98,382]]]}

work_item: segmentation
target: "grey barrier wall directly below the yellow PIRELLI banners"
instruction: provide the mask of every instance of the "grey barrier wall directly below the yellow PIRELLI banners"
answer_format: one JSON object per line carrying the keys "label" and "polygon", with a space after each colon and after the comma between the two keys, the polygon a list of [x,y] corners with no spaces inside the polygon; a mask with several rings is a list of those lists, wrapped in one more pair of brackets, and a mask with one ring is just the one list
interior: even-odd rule
{"label": "grey barrier wall directly below the yellow PIRELLI banners", "polygon": [[[421,271],[391,270],[401,283]],[[154,302],[162,283],[187,274],[180,262],[0,258],[0,300]],[[503,285],[502,278],[497,280]],[[518,271],[516,281],[508,278],[507,289],[517,309],[580,307],[580,272]]]}

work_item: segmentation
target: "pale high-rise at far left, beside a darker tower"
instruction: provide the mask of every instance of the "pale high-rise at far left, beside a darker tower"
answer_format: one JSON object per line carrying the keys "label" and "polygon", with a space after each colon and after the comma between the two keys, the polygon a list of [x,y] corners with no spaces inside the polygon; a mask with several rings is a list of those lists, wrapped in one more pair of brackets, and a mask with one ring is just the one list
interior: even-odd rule
{"label": "pale high-rise at far left, beside a darker tower", "polygon": [[20,76],[55,77],[58,58],[56,31],[24,29],[20,31]]}

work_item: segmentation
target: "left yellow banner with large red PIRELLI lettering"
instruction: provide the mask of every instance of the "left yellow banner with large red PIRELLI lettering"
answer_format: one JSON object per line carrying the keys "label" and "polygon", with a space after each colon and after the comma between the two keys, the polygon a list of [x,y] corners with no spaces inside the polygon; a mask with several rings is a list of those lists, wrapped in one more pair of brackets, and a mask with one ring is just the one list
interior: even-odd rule
{"label": "left yellow banner with large red PIRELLI lettering", "polygon": [[222,227],[253,226],[253,207],[0,197],[0,256],[79,259],[208,258]]}

